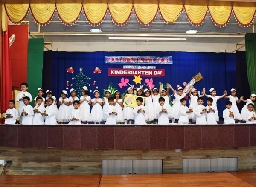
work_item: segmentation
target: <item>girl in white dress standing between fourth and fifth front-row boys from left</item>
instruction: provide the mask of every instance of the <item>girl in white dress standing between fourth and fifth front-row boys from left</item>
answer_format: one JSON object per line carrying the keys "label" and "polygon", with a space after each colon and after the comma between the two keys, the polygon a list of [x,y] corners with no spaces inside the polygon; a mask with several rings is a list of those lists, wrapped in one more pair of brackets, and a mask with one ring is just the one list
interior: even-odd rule
{"label": "girl in white dress standing between fourth and fifth front-row boys from left", "polygon": [[69,122],[69,114],[70,114],[70,104],[69,99],[67,98],[67,91],[61,91],[61,97],[59,98],[59,110],[57,115],[57,122],[67,124]]}

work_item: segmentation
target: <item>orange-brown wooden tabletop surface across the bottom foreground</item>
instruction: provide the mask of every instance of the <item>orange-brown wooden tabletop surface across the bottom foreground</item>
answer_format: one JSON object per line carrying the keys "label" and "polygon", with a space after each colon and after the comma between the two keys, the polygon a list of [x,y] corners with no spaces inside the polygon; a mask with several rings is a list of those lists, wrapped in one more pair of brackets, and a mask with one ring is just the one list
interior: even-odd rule
{"label": "orange-brown wooden tabletop surface across the bottom foreground", "polygon": [[151,175],[5,175],[1,187],[256,187],[256,171]]}

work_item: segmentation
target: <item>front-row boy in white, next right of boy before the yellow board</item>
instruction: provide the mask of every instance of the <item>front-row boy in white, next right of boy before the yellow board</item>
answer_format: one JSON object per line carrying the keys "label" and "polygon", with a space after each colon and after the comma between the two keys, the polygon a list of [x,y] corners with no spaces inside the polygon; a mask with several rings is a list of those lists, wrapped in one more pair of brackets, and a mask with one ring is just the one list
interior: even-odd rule
{"label": "front-row boy in white, next right of boy before the yellow board", "polygon": [[167,107],[168,105],[165,105],[165,99],[163,97],[160,97],[159,99],[159,105],[157,106],[157,118],[158,118],[158,124],[159,125],[167,125],[169,124],[169,117],[168,114],[170,113],[171,106]]}

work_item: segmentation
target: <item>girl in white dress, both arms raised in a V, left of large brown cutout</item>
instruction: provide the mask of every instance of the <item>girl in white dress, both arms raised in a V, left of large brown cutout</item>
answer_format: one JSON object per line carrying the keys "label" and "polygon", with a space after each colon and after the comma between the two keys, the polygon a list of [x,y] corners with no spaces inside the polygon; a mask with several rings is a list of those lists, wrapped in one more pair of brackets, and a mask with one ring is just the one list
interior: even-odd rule
{"label": "girl in white dress, both arms raised in a V, left of large brown cutout", "polygon": [[192,87],[190,87],[186,91],[186,93],[184,93],[183,88],[180,85],[177,86],[177,91],[175,89],[173,89],[170,84],[168,84],[168,86],[173,91],[173,94],[175,96],[175,103],[171,109],[172,123],[174,123],[175,119],[178,120],[180,117],[180,105],[181,105],[180,99],[184,98],[186,96],[186,94],[188,94],[190,92]]}

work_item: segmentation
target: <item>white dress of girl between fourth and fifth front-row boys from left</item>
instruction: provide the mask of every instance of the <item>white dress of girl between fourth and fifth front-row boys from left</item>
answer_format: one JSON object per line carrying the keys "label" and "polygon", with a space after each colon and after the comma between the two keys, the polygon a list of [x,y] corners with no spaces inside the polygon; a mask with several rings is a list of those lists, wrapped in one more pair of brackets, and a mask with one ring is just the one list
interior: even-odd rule
{"label": "white dress of girl between fourth and fifth front-row boys from left", "polygon": [[[66,122],[69,122],[69,114],[70,114],[70,108],[68,105],[65,105],[63,102],[63,99],[62,97],[59,98],[59,102],[61,102],[61,105],[59,107],[59,110],[58,110],[58,115],[57,115],[57,118],[56,120],[58,122],[61,122],[61,123],[66,123]],[[69,102],[69,99],[66,97],[64,99],[64,102],[65,103],[68,103]]]}

